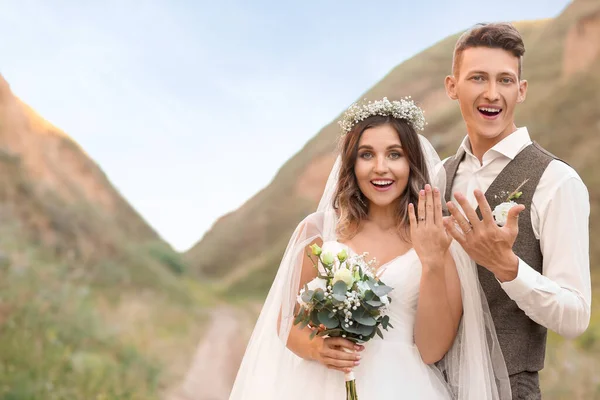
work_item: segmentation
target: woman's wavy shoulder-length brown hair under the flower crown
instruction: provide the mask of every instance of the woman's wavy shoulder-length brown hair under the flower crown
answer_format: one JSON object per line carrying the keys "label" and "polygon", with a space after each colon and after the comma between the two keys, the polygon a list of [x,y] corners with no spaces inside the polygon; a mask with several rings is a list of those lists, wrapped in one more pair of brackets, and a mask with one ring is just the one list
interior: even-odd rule
{"label": "woman's wavy shoulder-length brown hair under the flower crown", "polygon": [[338,214],[336,233],[342,240],[351,239],[358,232],[369,211],[368,200],[360,191],[354,166],[358,157],[358,143],[365,130],[382,125],[390,125],[397,133],[404,156],[408,160],[410,173],[408,184],[402,195],[395,201],[396,226],[404,238],[408,238],[408,205],[416,205],[419,191],[429,182],[429,171],[421,148],[419,135],[407,121],[392,116],[374,115],[355,124],[352,129],[342,136],[340,154],[342,165],[335,195],[333,208]]}

